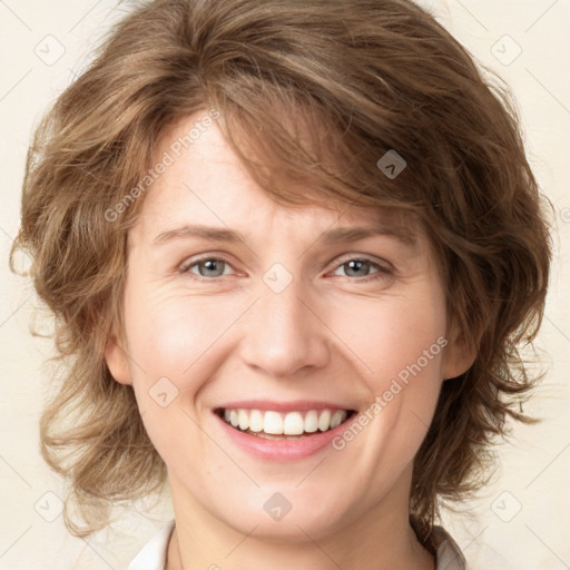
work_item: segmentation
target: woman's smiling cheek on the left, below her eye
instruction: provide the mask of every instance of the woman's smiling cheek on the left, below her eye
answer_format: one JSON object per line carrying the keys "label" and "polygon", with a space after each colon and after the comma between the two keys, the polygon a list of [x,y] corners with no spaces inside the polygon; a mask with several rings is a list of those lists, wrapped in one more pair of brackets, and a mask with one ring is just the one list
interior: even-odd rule
{"label": "woman's smiling cheek on the left, below her eye", "polygon": [[236,318],[229,309],[219,301],[150,287],[140,287],[128,301],[134,390],[147,433],[169,466],[202,453],[191,402],[219,360],[212,356],[220,346],[216,341]]}

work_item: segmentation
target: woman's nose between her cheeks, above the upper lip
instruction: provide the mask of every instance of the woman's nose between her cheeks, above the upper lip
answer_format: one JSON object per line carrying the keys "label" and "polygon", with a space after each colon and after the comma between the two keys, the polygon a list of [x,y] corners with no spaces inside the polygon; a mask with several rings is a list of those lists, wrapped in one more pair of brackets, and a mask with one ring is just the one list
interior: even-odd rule
{"label": "woman's nose between her cheeks, above the upper lip", "polygon": [[261,298],[243,323],[242,358],[269,376],[292,377],[330,358],[328,330],[298,281],[281,293],[262,284]]}

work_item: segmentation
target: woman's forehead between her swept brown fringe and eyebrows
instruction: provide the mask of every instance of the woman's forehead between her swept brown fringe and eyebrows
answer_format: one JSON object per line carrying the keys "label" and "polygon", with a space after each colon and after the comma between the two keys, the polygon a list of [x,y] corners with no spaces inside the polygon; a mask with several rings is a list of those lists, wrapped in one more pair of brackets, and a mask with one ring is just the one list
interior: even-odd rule
{"label": "woman's forehead between her swept brown fringe and eyebrows", "polygon": [[307,227],[316,233],[326,230],[332,242],[343,236],[354,239],[357,227],[361,233],[365,228],[382,228],[409,243],[421,234],[409,212],[335,200],[324,197],[316,185],[297,181],[287,188],[307,199],[306,205],[277,203],[252,179],[216,121],[203,128],[191,145],[180,149],[180,141],[186,140],[184,137],[204,116],[205,111],[198,111],[163,134],[153,163],[168,163],[168,167],[147,191],[138,224],[142,228],[160,228],[165,233],[190,223],[225,226],[226,236],[232,238],[236,237],[232,229],[252,233],[279,223],[292,232]]}

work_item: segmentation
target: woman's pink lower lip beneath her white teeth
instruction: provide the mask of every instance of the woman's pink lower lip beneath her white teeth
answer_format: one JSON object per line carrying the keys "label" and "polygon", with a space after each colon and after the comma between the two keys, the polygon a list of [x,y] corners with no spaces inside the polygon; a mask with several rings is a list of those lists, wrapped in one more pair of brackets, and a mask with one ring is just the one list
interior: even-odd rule
{"label": "woman's pink lower lip beneath her white teeth", "polygon": [[308,458],[324,450],[336,435],[340,435],[350,426],[357,414],[353,414],[348,421],[337,425],[334,430],[315,432],[314,435],[297,440],[266,440],[232,428],[216,413],[214,413],[214,416],[222,424],[222,429],[233,443],[245,452],[271,461],[293,461]]}

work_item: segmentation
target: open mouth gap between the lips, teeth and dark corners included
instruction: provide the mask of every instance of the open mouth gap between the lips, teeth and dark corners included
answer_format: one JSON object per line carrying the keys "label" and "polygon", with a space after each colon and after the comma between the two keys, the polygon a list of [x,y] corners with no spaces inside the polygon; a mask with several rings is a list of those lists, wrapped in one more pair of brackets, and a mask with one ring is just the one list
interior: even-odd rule
{"label": "open mouth gap between the lips, teeth and dark corners included", "polygon": [[355,410],[306,410],[276,412],[273,410],[224,409],[214,411],[237,431],[267,440],[298,440],[327,432],[347,422]]}

